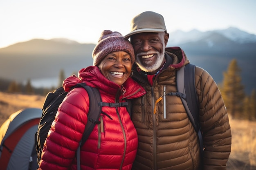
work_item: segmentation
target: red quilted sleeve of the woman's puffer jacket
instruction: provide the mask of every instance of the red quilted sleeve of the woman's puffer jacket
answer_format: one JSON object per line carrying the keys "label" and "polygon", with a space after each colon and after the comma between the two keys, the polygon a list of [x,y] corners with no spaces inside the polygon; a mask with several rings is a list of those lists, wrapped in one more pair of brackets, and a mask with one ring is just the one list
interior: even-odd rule
{"label": "red quilted sleeve of the woman's puffer jacket", "polygon": [[83,88],[67,94],[48,132],[39,164],[41,170],[69,169],[85,129],[88,106],[88,93]]}

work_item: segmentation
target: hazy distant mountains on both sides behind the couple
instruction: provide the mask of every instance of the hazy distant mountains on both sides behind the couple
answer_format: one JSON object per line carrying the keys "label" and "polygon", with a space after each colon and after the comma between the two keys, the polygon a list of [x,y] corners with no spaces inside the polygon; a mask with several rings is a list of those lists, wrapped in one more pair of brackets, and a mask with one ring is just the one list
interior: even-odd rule
{"label": "hazy distant mountains on both sides behind the couple", "polygon": [[[58,78],[92,65],[95,44],[67,39],[33,39],[0,49],[0,79],[24,82],[27,79]],[[171,32],[167,46],[180,46],[191,63],[207,70],[217,83],[232,59],[241,68],[245,91],[256,89],[256,35],[230,27],[225,30]]]}

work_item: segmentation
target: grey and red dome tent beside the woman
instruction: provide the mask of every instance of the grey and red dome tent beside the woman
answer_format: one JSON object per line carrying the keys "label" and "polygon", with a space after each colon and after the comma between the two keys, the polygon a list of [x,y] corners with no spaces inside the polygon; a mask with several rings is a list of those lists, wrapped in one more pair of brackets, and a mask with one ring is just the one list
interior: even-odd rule
{"label": "grey and red dome tent beside the woman", "polygon": [[42,110],[27,108],[13,113],[0,128],[0,170],[36,170],[34,137]]}

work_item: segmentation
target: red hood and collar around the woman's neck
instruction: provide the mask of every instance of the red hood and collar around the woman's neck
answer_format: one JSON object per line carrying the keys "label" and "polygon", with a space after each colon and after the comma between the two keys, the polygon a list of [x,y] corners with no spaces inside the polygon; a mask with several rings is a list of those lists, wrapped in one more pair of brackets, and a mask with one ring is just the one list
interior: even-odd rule
{"label": "red hood and collar around the woman's neck", "polygon": [[[115,84],[104,77],[97,66],[82,68],[78,72],[78,77],[76,77],[76,75],[68,77],[63,82],[63,88],[68,92],[71,90],[72,86],[82,82],[88,86],[98,88],[100,93],[105,93],[106,95],[116,95],[117,92],[121,90],[121,87],[118,84]],[[124,96],[121,98],[132,99],[146,94],[144,88],[130,77],[123,84],[123,87],[125,88],[126,93],[124,93]]]}

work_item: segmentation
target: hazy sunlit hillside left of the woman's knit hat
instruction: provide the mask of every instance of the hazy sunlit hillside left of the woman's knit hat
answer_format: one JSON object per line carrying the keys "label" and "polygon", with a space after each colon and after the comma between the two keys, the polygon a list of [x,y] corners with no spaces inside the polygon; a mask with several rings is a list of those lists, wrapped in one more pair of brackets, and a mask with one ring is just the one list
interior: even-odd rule
{"label": "hazy sunlit hillside left of the woman's knit hat", "polygon": [[67,75],[92,64],[95,44],[67,43],[63,40],[34,39],[0,49],[0,78],[23,82],[27,79]]}

